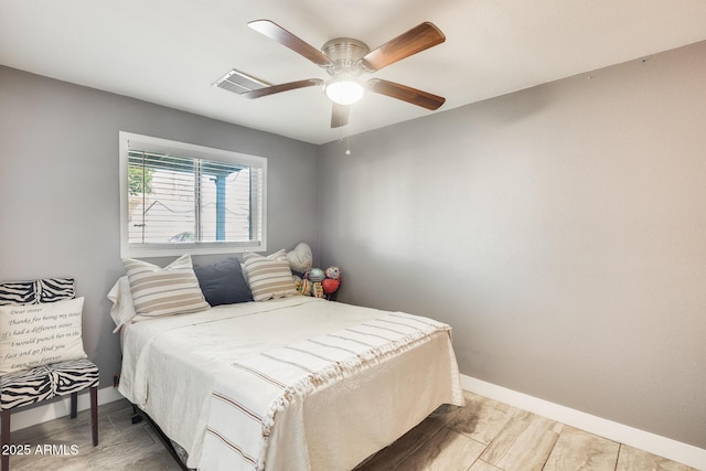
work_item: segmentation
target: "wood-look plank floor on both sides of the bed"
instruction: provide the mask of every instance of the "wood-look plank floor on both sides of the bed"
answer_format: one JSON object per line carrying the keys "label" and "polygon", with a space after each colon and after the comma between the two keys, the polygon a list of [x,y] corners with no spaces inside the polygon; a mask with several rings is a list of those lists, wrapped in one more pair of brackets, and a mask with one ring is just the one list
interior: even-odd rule
{"label": "wood-look plank floor on both sides of the bed", "polygon": [[[466,407],[446,407],[432,414],[356,471],[693,470],[506,404],[464,394]],[[90,442],[87,410],[74,420],[60,418],[18,430],[12,433],[13,443],[29,445],[31,452],[13,456],[10,470],[180,470],[146,421],[131,424],[131,411],[126,400],[100,406],[97,447]],[[65,454],[61,454],[62,445]],[[75,454],[72,445],[76,446]]]}

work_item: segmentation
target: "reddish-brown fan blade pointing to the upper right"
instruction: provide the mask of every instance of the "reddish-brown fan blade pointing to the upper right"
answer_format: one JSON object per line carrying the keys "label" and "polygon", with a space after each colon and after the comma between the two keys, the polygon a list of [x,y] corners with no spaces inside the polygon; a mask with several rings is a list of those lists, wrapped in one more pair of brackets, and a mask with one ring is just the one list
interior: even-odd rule
{"label": "reddish-brown fan blade pointing to the upper right", "polygon": [[427,21],[365,54],[361,65],[368,72],[379,71],[445,41],[441,30]]}

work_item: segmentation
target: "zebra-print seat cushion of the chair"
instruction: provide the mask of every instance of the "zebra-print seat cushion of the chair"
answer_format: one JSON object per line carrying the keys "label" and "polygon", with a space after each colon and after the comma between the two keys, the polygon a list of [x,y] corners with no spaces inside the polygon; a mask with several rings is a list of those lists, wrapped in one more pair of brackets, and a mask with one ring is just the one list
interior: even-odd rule
{"label": "zebra-print seat cushion of the chair", "polygon": [[98,386],[98,366],[81,358],[0,376],[0,409],[26,406]]}

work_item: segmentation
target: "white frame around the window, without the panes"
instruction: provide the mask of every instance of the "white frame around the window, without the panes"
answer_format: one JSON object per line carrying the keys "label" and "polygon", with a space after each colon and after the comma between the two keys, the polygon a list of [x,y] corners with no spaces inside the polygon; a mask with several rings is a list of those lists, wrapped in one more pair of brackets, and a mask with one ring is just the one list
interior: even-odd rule
{"label": "white frame around the window, without the panes", "polygon": [[[130,150],[159,152],[164,154],[186,156],[194,159],[205,159],[217,162],[247,165],[263,170],[263,194],[254,201],[254,211],[260,217],[254,217],[255,233],[260,234],[259,240],[249,242],[194,242],[164,244],[130,244],[129,243],[129,192],[128,192],[128,158]],[[120,153],[120,257],[162,257],[183,254],[232,254],[243,251],[267,250],[267,159],[228,150],[214,149],[186,142],[142,136],[133,132],[119,132]],[[258,221],[259,220],[259,221]],[[259,223],[259,224],[258,224]]]}

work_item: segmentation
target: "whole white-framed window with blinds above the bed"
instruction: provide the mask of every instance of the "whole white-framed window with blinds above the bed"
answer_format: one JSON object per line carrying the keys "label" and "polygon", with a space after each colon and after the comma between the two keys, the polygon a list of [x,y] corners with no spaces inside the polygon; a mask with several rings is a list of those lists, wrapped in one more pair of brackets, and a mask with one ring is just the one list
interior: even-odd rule
{"label": "whole white-framed window with blinds above the bed", "polygon": [[266,250],[267,159],[120,131],[120,255]]}

